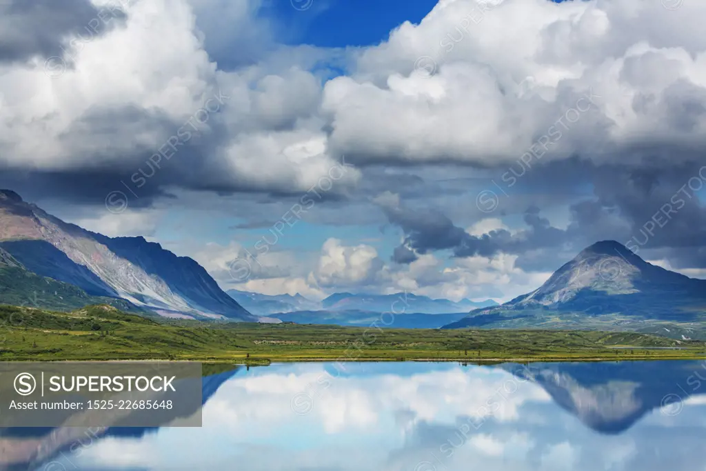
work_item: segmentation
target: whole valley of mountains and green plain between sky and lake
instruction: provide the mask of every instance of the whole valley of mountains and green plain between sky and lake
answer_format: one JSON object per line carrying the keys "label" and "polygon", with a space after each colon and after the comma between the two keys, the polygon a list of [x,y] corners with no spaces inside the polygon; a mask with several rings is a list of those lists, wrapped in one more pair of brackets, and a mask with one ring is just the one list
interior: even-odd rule
{"label": "whole valley of mountains and green plain between sky and lake", "polygon": [[[0,304],[19,306],[4,309],[20,309],[13,315],[34,329],[18,337],[11,328],[4,359],[335,359],[369,326],[379,333],[360,349],[361,359],[472,359],[467,350],[476,359],[613,358],[626,352],[606,345],[706,341],[706,281],[647,263],[614,241],[587,247],[537,290],[505,304],[412,292],[334,292],[312,300],[225,292],[191,258],[143,237],[111,238],[67,224],[9,190],[0,191],[0,224]],[[141,317],[100,314],[97,332],[87,331],[85,316],[76,314],[87,309],[90,316]],[[32,317],[49,325],[34,326]],[[83,327],[71,327],[76,322]],[[519,344],[503,343],[517,335]],[[604,335],[612,343],[561,345],[572,335]],[[618,342],[620,335],[635,335],[637,343]]]}

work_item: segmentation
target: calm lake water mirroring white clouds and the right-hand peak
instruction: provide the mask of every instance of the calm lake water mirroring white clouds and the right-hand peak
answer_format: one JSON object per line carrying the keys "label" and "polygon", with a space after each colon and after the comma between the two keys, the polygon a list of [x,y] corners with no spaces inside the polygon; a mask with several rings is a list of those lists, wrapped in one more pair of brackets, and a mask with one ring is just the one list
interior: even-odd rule
{"label": "calm lake water mirroring white clouds and the right-hand peak", "polygon": [[0,469],[703,471],[703,393],[706,362],[276,364],[205,378],[201,429],[6,430]]}

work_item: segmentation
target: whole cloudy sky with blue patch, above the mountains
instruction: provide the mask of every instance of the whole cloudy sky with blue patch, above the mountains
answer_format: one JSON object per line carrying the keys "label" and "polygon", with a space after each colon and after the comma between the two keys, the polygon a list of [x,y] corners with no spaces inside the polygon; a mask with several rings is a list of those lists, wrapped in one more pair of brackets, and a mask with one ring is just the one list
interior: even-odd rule
{"label": "whole cloudy sky with blue patch, above the mountains", "polygon": [[225,289],[507,301],[606,239],[706,278],[705,14],[8,0],[0,188]]}

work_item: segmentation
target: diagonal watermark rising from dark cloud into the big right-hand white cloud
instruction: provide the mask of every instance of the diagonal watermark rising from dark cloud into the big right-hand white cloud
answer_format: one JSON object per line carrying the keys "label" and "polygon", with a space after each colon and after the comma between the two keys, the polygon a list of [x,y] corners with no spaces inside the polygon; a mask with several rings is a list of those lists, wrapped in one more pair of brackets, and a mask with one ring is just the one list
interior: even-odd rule
{"label": "diagonal watermark rising from dark cloud into the big right-hand white cloud", "polygon": [[[503,195],[509,196],[506,190],[509,190],[517,181],[525,176],[532,169],[532,165],[536,165],[542,160],[542,157],[551,150],[554,145],[558,145],[559,141],[572,129],[583,114],[590,109],[597,109],[595,100],[600,98],[591,89],[587,94],[582,95],[572,107],[566,109],[565,112],[557,119],[554,124],[549,126],[546,133],[539,136],[525,153],[520,155],[515,164],[518,169],[515,169],[515,164],[510,165],[507,172],[501,175],[502,185],[495,179],[491,179],[495,189],[498,189]],[[476,196],[476,207],[481,213],[493,213],[500,205],[500,197],[495,189],[484,189]]]}

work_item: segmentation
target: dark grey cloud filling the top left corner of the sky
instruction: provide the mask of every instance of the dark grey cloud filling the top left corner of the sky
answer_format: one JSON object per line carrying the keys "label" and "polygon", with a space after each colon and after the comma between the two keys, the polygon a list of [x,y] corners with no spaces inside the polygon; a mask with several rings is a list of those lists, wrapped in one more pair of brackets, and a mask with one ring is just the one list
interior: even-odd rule
{"label": "dark grey cloud filling the top left corner of the sky", "polygon": [[96,8],[90,0],[4,0],[0,3],[0,61],[64,56],[62,45],[68,36],[78,35],[85,42],[124,18],[118,0],[107,8]]}

